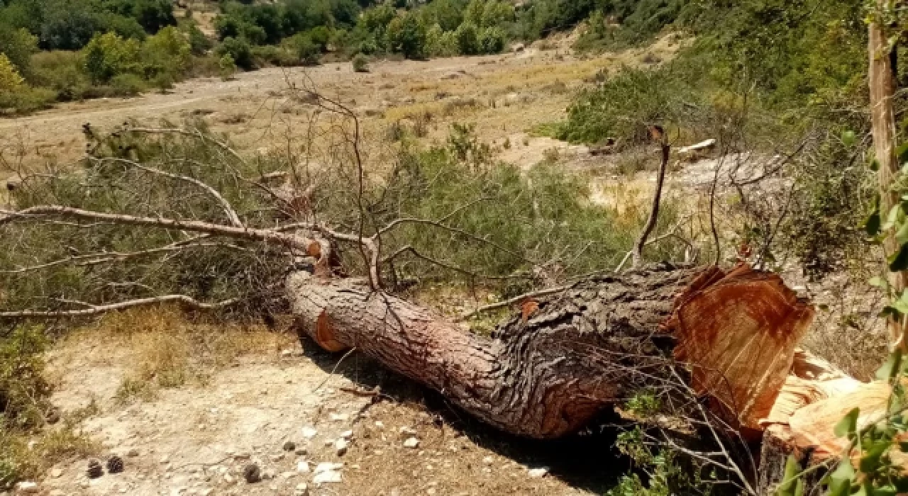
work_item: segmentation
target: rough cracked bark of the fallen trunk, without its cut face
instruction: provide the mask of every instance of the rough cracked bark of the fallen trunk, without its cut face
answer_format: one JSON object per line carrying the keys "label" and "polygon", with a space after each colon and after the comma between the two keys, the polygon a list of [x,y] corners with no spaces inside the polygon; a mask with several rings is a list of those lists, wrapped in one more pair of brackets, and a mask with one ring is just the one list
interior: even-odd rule
{"label": "rough cracked bark of the fallen trunk, without its cut face", "polygon": [[465,332],[363,280],[287,280],[301,332],[356,347],[509,433],[555,438],[658,384],[675,339],[662,327],[700,271],[663,264],[594,277],[529,302],[491,337]]}

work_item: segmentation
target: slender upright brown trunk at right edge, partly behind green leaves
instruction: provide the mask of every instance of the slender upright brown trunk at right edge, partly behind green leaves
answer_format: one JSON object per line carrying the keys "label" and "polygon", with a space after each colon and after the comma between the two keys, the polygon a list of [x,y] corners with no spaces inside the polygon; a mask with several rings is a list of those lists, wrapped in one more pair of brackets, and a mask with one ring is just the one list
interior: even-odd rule
{"label": "slender upright brown trunk at right edge, partly behind green leaves", "polygon": [[[877,5],[883,8],[885,0],[877,0]],[[895,112],[893,111],[893,94],[895,92],[895,78],[893,75],[893,59],[889,56],[889,43],[883,26],[879,23],[870,23],[870,111],[873,126],[873,151],[880,169],[878,174],[880,185],[880,213],[883,219],[898,205],[899,196],[891,189],[893,180],[898,174],[899,163],[895,157]],[[883,251],[888,258],[899,249],[899,244],[893,237],[888,237],[883,243]],[[893,273],[889,283],[896,295],[901,295],[908,286],[908,275],[904,272]],[[905,339],[903,322],[895,319],[889,321],[890,343],[894,347],[908,345]]]}

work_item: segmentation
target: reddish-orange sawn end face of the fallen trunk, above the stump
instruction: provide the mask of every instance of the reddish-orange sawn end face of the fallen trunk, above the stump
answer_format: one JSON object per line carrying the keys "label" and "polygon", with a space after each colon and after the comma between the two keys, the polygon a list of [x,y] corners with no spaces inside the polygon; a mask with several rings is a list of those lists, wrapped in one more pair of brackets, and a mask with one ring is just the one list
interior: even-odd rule
{"label": "reddish-orange sawn end face of the fallen trunk, above the stump", "polygon": [[711,267],[678,297],[665,327],[678,340],[675,357],[689,365],[696,393],[726,422],[762,431],[813,317],[775,274]]}

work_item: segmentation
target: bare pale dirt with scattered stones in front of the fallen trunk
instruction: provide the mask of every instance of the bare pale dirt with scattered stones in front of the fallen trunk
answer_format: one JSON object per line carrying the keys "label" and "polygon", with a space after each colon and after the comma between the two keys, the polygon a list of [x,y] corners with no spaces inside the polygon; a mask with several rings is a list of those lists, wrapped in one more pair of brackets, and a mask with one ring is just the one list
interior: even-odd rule
{"label": "bare pale dirt with scattered stones in front of the fallen trunk", "polygon": [[[182,339],[136,326],[132,336],[109,326],[74,333],[49,355],[54,404],[64,416],[90,411],[82,428],[103,445],[97,459],[117,454],[125,470],[89,479],[87,460],[61,464],[41,482],[44,494],[568,496],[601,493],[608,474],[626,468],[609,466],[608,440],[532,443],[493,433],[366,358],[340,361],[291,334],[256,329],[243,331],[245,351],[206,367],[204,381],[124,401],[124,381],[153,359],[143,345]],[[384,394],[378,403],[355,393],[374,386]],[[349,443],[342,453],[340,439]],[[250,463],[262,481],[244,480]],[[319,483],[320,463],[335,464],[340,481]]]}

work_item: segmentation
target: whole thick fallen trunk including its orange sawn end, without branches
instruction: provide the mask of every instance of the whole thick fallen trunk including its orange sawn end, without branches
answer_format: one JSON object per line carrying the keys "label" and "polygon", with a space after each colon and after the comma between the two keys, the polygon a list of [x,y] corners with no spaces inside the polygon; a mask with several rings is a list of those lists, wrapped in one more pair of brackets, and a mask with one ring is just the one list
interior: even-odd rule
{"label": "whole thick fallen trunk including its orange sawn end, without branches", "polygon": [[757,425],[813,316],[779,277],[749,267],[593,277],[525,302],[491,337],[361,280],[299,273],[287,287],[301,332],[326,349],[355,347],[480,420],[534,438],[577,431],[640,388],[674,380],[673,353],[698,393]]}

